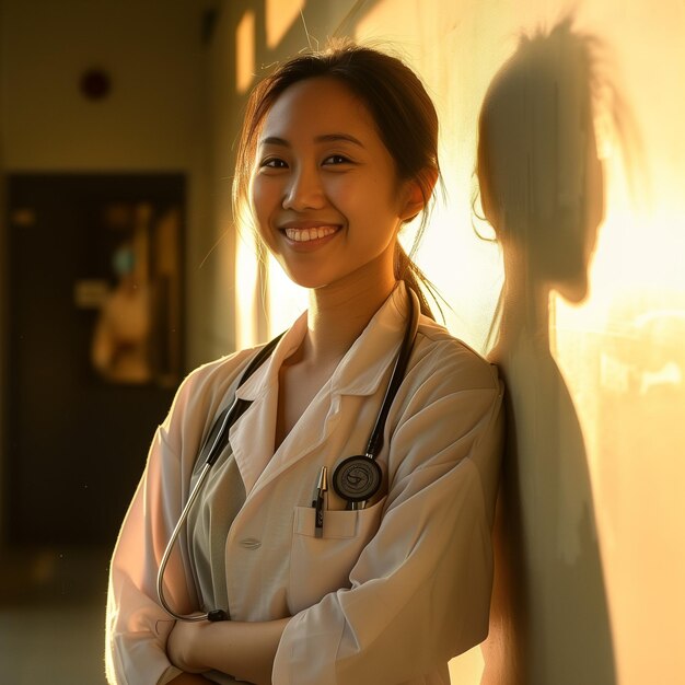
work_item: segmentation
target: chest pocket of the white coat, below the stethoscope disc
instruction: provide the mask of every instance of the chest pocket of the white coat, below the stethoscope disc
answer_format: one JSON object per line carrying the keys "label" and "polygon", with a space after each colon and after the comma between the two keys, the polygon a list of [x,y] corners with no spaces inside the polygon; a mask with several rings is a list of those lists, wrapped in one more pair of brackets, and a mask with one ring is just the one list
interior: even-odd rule
{"label": "chest pocket of the white coat, below the stethoscope disc", "polygon": [[381,523],[385,497],[359,511],[324,512],[322,537],[314,533],[314,509],[295,507],[290,553],[291,614],[316,604],[328,592],[349,588],[349,574]]}

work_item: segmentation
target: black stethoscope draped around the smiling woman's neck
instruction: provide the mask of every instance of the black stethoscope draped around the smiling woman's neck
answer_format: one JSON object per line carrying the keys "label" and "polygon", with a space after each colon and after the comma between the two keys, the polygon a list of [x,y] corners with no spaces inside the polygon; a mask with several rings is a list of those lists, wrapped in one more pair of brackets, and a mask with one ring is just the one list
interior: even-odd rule
{"label": "black stethoscope draped around the smiling woman's neck", "polygon": [[[399,352],[397,352],[395,367],[393,369],[393,375],[391,376],[390,383],[387,384],[387,390],[385,391],[385,396],[383,397],[383,404],[379,411],[379,416],[375,420],[373,430],[371,431],[369,442],[367,443],[367,449],[363,454],[348,456],[339,461],[333,472],[333,489],[340,498],[348,502],[348,509],[363,509],[365,502],[368,502],[379,491],[383,481],[383,471],[375,460],[381,452],[381,449],[383,448],[383,431],[385,428],[385,421],[387,419],[387,415],[390,413],[393,400],[395,399],[395,395],[397,394],[397,391],[399,390],[402,381],[404,380],[405,373],[407,371],[409,357],[414,347],[414,339],[416,338],[416,333],[418,330],[419,324],[418,298],[410,288],[407,288],[407,293],[409,295],[409,322],[405,329],[405,334],[402,340],[402,347],[399,348]],[[262,365],[262,363],[266,359],[268,359],[282,336],[283,334],[274,338],[270,342],[263,347],[259,352],[257,352],[257,355],[255,355],[253,360],[243,372],[243,375],[241,376],[241,380],[237,384],[239,387]],[[160,604],[164,607],[164,609],[177,620],[213,622],[229,619],[229,615],[223,609],[213,609],[205,614],[177,614],[169,605],[166,599],[164,597],[163,581],[164,571],[166,570],[166,565],[169,562],[172,549],[176,544],[176,539],[178,538],[181,529],[184,526],[188,518],[188,513],[195,500],[197,499],[202,488],[202,485],[205,484],[205,480],[207,480],[209,471],[219,458],[219,455],[221,454],[223,449],[227,446],[229,442],[229,431],[231,430],[231,427],[235,423],[235,421],[237,421],[237,419],[244,414],[244,411],[247,409],[247,407],[249,407],[251,404],[251,400],[235,397],[233,404],[223,411],[221,411],[221,414],[219,414],[219,416],[217,417],[211,430],[209,431],[209,437],[205,445],[202,446],[202,450],[200,451],[200,455],[205,452],[207,453],[205,465],[202,466],[202,471],[200,472],[200,475],[193,490],[190,491],[188,501],[181,512],[178,523],[176,523],[176,526],[174,527],[171,537],[169,538],[164,555],[162,556],[162,561],[160,562],[160,569],[156,576],[158,597],[160,600]]]}

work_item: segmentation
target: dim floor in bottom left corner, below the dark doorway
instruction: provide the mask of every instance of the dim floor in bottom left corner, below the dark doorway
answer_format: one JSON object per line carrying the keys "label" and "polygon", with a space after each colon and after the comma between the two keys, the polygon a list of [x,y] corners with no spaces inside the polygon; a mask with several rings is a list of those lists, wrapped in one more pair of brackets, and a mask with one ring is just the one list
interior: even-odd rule
{"label": "dim floor in bottom left corner, below the dark doorway", "polygon": [[105,685],[108,556],[92,549],[0,550],[3,683]]}

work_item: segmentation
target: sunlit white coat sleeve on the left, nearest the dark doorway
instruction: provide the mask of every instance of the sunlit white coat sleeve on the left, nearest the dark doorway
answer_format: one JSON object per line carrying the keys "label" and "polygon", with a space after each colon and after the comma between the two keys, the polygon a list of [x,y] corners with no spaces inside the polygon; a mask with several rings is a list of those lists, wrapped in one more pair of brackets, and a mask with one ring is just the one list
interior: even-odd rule
{"label": "sunlit white coat sleeve on the left, nearest the dark doorway", "polygon": [[[166,657],[174,620],[159,604],[156,573],[188,494],[209,414],[211,365],[181,385],[154,434],[148,463],[124,520],[109,569],[105,669],[111,685],[163,685],[181,673]],[[183,535],[164,574],[165,596],[181,613],[196,608]]]}

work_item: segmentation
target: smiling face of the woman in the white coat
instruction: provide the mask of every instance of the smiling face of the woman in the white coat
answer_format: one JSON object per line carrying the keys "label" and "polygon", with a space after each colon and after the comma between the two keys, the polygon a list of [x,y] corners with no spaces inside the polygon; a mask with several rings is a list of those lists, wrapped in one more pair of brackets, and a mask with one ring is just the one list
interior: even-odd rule
{"label": "smiling face of the woman in the white coat", "polygon": [[[286,90],[257,141],[251,204],[257,229],[305,288],[392,277],[408,183],[362,102],[329,78]],[[416,213],[416,212],[413,212]]]}

